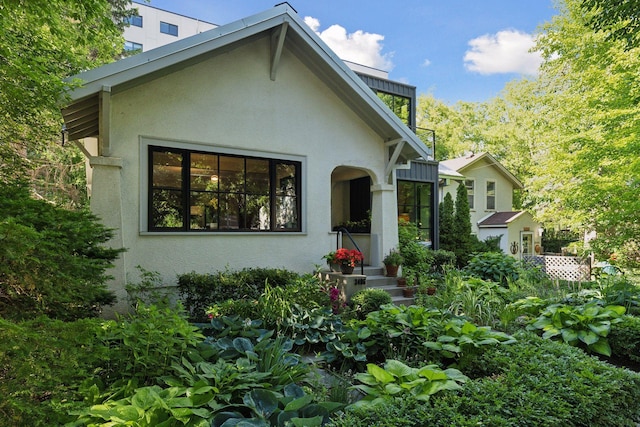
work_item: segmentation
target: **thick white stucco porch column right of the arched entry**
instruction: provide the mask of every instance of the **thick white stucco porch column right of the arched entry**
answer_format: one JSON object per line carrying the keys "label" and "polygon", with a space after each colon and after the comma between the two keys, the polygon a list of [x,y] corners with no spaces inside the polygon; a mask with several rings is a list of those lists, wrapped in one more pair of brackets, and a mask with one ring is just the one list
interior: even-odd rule
{"label": "thick white stucco porch column right of the arched entry", "polygon": [[371,265],[398,246],[398,202],[394,184],[371,186]]}

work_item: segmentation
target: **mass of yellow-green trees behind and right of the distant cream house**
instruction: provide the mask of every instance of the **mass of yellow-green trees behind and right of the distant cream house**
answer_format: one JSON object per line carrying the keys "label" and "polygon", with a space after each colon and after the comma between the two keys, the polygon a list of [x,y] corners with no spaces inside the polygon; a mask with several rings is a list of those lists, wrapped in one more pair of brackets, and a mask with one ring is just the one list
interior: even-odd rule
{"label": "mass of yellow-green trees behind and right of the distant cream house", "polygon": [[491,152],[525,183],[523,206],[547,227],[596,230],[603,251],[638,247],[640,48],[595,31],[596,11],[583,3],[560,1],[541,27],[537,78],[486,103],[422,97],[419,125],[436,129],[441,155]]}

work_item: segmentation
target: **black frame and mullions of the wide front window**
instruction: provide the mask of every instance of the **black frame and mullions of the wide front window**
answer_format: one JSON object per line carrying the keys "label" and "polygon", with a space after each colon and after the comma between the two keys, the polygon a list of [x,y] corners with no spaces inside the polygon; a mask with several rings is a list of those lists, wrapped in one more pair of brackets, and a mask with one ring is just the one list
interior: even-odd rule
{"label": "black frame and mullions of the wide front window", "polygon": [[[181,175],[182,175],[182,209],[184,212],[184,218],[182,220],[182,226],[180,228],[170,227],[154,227],[153,224],[153,153],[154,152],[172,152],[178,153],[182,156],[181,163]],[[268,230],[256,230],[251,228],[237,228],[237,229],[190,229],[190,197],[191,197],[191,180],[190,180],[190,162],[191,154],[210,154],[222,157],[235,157],[244,159],[257,159],[269,161],[269,221],[270,228]],[[147,230],[149,232],[166,232],[166,233],[299,233],[302,231],[302,162],[296,160],[287,160],[271,157],[260,157],[242,154],[229,154],[225,152],[203,151],[203,150],[190,150],[176,147],[166,147],[161,145],[149,144],[147,146]],[[218,162],[220,159],[218,158]],[[296,213],[297,213],[297,227],[295,228],[276,228],[276,201],[277,201],[277,182],[276,182],[276,166],[279,164],[288,164],[295,167],[295,197],[296,197]],[[219,163],[218,163],[219,165]],[[245,182],[246,182],[246,168],[245,168]],[[218,194],[224,193],[217,191]],[[246,192],[243,193],[246,196]]]}

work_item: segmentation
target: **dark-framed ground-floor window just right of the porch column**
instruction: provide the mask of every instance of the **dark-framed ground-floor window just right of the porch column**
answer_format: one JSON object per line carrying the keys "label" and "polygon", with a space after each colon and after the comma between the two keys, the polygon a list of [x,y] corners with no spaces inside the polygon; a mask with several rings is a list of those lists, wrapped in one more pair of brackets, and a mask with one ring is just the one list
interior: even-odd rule
{"label": "dark-framed ground-floor window just right of the porch column", "polygon": [[398,180],[398,218],[417,225],[433,242],[433,183]]}

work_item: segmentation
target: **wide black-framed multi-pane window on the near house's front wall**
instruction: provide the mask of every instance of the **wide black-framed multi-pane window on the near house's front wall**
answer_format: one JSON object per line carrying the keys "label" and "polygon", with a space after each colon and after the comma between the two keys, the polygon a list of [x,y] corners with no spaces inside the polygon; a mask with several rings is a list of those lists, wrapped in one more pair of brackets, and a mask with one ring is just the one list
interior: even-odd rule
{"label": "wide black-framed multi-pane window on the near house's front wall", "polygon": [[301,163],[149,146],[149,231],[301,231]]}

